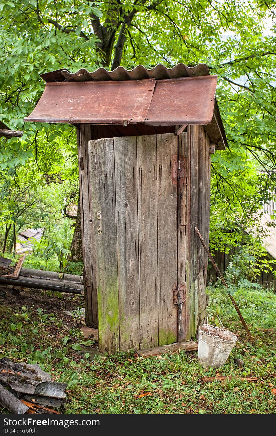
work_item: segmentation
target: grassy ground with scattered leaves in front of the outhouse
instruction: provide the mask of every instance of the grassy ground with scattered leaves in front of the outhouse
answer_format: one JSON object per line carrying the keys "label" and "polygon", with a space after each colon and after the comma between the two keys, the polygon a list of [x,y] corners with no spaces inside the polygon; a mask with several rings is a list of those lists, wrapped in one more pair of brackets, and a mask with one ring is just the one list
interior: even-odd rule
{"label": "grassy ground with scattered leaves in front of the outhouse", "polygon": [[[258,290],[235,294],[256,338],[251,344],[228,297],[219,289],[209,293],[210,310],[218,312],[225,326],[239,337],[219,370],[202,368],[197,352],[142,359],[129,351],[89,361],[88,354],[81,357],[77,351],[93,342],[85,341],[62,315],[63,300],[43,298],[44,294],[39,301],[25,297],[24,304],[20,296],[12,302],[0,300],[0,355],[39,363],[53,379],[67,382],[61,413],[275,413],[276,294]],[[238,368],[234,358],[242,358],[245,366]],[[202,380],[215,374],[232,375],[232,380]],[[240,377],[256,377],[257,381]]]}

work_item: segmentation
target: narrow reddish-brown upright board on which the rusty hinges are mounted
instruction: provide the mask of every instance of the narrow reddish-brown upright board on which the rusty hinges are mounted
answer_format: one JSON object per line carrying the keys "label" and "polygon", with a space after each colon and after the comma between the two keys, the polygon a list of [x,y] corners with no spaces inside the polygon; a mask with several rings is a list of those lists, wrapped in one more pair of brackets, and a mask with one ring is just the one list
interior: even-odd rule
{"label": "narrow reddish-brown upright board on which the rusty hinges are mounted", "polygon": [[177,185],[178,196],[178,211],[177,211],[177,283],[185,284],[184,302],[181,307],[178,307],[178,324],[177,337],[178,340],[186,339],[186,304],[187,293],[189,292],[189,280],[186,271],[186,263],[188,260],[188,235],[187,235],[187,208],[189,207],[189,180],[190,180],[190,164],[189,153],[187,149],[187,133],[181,133],[178,136],[178,157],[184,160],[184,178],[179,179]]}

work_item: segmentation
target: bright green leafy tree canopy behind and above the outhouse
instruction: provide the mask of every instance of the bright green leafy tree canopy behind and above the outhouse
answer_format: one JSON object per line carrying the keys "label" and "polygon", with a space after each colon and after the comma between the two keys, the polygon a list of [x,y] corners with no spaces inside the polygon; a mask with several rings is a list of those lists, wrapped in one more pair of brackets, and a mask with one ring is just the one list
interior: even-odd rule
{"label": "bright green leafy tree canopy behind and above the outhouse", "polygon": [[[218,75],[229,142],[228,150],[212,157],[213,241],[218,246],[239,238],[229,231],[236,222],[250,225],[275,189],[273,1],[14,0],[0,3],[0,19],[0,119],[14,128],[23,126],[43,91],[41,73],[206,63]],[[21,140],[1,139],[1,184],[14,181],[24,189],[35,174],[43,189],[48,174],[76,190],[74,129],[32,123],[24,129]]]}

